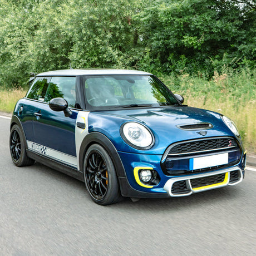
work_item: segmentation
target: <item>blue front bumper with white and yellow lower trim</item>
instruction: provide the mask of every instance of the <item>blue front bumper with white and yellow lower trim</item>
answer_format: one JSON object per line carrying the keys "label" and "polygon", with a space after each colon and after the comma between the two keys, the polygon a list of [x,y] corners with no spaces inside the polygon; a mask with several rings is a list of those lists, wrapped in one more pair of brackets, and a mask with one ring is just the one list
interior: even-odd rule
{"label": "blue front bumper with white and yellow lower trim", "polygon": [[[218,168],[217,170],[201,173],[193,173],[193,171],[191,171],[190,174],[186,175],[168,176],[165,175],[161,169],[161,155],[131,154],[126,152],[119,152],[119,155],[126,173],[126,177],[119,176],[121,194],[122,196],[134,198],[185,196],[200,191],[220,188],[222,186],[236,185],[243,180],[246,161],[244,152],[244,157],[242,157],[239,163],[235,166]],[[160,175],[159,184],[142,186],[141,183],[137,183],[134,170],[140,169],[138,166],[140,166],[141,169],[154,169],[157,171]],[[215,179],[215,176],[217,179]],[[202,178],[205,178],[205,183],[203,184],[200,180]],[[178,183],[183,183],[183,188],[172,191]],[[198,183],[198,186],[195,187],[194,183]]]}

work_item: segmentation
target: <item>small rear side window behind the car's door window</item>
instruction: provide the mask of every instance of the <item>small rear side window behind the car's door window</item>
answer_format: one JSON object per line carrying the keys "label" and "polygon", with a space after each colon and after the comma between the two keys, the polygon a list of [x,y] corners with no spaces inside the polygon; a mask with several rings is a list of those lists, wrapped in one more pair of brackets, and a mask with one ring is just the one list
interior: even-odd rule
{"label": "small rear side window behind the car's door window", "polygon": [[46,90],[49,85],[50,77],[36,77],[31,88],[27,93],[27,98],[32,100],[45,100]]}

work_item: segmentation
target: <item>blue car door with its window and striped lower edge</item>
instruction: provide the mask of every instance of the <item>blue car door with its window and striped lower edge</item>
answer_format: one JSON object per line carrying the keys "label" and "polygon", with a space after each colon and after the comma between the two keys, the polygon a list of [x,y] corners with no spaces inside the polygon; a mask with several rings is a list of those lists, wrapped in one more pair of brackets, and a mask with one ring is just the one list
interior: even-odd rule
{"label": "blue car door with its window and striped lower edge", "polygon": [[33,114],[33,150],[39,154],[77,167],[75,146],[75,125],[78,110],[72,109],[72,115],[65,117],[63,111],[50,109],[48,102],[55,97],[63,97],[70,107],[75,106],[76,77],[52,77],[42,101],[36,102]]}

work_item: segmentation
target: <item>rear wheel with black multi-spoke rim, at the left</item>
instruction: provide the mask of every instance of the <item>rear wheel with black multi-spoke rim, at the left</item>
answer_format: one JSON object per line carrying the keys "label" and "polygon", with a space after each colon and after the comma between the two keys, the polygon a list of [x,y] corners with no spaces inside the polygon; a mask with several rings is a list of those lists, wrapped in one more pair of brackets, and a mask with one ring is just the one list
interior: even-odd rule
{"label": "rear wheel with black multi-spoke rim, at the left", "polygon": [[9,137],[9,148],[12,161],[16,166],[28,166],[35,163],[35,160],[27,156],[25,141],[22,136],[22,131],[18,125],[12,126]]}

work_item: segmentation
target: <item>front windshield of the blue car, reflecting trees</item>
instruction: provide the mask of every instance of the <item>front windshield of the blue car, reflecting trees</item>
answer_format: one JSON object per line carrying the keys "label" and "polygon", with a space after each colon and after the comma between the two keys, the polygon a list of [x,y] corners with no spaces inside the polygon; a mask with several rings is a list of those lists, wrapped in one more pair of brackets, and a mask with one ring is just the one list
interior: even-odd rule
{"label": "front windshield of the blue car, reflecting trees", "polygon": [[83,85],[87,109],[180,105],[173,93],[154,76],[85,76]]}

